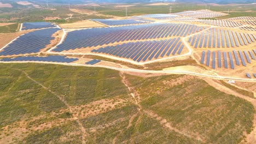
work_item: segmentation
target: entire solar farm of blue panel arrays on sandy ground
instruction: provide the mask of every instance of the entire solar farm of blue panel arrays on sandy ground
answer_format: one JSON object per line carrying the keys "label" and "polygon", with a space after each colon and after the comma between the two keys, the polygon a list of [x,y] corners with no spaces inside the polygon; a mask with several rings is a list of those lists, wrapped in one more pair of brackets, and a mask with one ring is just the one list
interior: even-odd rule
{"label": "entire solar farm of blue panel arrays on sandy ground", "polygon": [[229,75],[239,70],[237,77],[251,74],[254,79],[256,17],[211,19],[225,15],[211,10],[147,14],[90,19],[106,27],[63,29],[50,22],[25,22],[20,30],[31,32],[2,47],[0,62],[104,63],[99,58],[79,58],[83,55],[145,65],[191,57],[214,73]]}

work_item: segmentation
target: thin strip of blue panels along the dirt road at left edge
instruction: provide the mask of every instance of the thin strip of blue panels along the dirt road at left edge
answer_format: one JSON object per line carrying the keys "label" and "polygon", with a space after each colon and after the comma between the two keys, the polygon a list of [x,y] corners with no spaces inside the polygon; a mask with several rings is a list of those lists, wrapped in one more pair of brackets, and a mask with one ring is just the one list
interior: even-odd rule
{"label": "thin strip of blue panels along the dirt road at left edge", "polygon": [[59,62],[59,63],[71,63],[77,60],[78,58],[67,58],[66,56],[46,56],[46,57],[27,56],[27,57],[0,59],[0,61],[2,62],[31,61],[31,62]]}

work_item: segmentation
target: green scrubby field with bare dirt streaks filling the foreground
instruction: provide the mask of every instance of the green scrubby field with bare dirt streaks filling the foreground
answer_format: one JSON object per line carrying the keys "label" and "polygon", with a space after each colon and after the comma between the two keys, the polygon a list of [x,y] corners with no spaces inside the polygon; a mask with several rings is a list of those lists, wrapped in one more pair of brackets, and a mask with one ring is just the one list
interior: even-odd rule
{"label": "green scrubby field with bare dirt streaks filling the foreground", "polygon": [[252,130],[252,104],[193,76],[1,64],[0,81],[3,143],[238,143]]}

